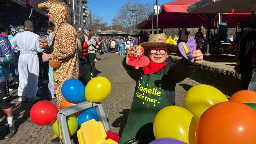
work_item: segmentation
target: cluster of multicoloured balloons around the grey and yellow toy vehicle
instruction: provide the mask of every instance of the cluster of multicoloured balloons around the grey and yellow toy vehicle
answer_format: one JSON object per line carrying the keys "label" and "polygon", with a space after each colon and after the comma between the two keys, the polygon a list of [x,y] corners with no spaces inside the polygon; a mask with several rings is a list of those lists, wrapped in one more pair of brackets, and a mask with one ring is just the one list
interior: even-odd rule
{"label": "cluster of multicoloured balloons around the grey and yellow toy vehicle", "polygon": [[[61,93],[64,99],[60,103],[60,109],[64,109],[85,100],[89,102],[99,102],[108,97],[111,91],[111,84],[105,77],[95,77],[89,81],[86,87],[77,79],[69,79],[61,86]],[[58,108],[50,101],[37,102],[30,111],[31,120],[37,125],[51,124],[53,132],[59,136],[57,124]],[[76,118],[76,116],[78,118]],[[78,129],[78,125],[95,119],[98,121],[98,114],[95,108],[85,109],[68,116],[68,132],[71,137]]]}

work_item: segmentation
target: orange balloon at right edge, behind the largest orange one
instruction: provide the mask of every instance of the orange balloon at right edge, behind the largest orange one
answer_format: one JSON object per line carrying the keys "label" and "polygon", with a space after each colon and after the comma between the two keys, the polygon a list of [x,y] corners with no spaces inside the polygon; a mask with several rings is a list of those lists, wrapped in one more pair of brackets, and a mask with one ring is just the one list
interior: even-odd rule
{"label": "orange balloon at right edge, behind the largest orange one", "polygon": [[229,101],[256,103],[256,92],[250,90],[238,91],[229,98]]}

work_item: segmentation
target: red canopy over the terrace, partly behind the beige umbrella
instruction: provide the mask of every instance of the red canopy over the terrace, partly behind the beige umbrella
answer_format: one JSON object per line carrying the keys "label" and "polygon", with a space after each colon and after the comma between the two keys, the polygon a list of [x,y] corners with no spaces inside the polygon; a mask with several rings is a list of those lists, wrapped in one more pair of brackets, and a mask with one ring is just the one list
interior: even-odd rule
{"label": "red canopy over the terrace, partly behind the beige umbrella", "polygon": [[[188,28],[208,27],[209,22],[213,28],[214,21],[217,21],[217,14],[194,14],[187,13],[188,5],[198,0],[177,0],[160,7],[158,14],[158,28],[179,28],[181,23],[186,23]],[[210,20],[209,20],[210,18]],[[222,20],[227,21],[228,28],[235,28],[243,20],[250,20],[248,13],[223,13]],[[147,20],[136,25],[136,28],[152,28],[152,15]],[[154,16],[154,28],[156,28],[156,16]]]}

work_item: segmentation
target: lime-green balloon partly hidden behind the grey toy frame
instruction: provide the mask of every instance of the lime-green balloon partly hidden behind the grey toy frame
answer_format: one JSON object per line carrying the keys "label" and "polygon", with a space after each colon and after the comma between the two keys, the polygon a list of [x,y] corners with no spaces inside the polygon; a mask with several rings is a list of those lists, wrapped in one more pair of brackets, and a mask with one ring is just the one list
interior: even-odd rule
{"label": "lime-green balloon partly hidden behind the grey toy frame", "polygon": [[[73,136],[77,129],[78,129],[78,121],[75,115],[70,115],[68,116],[68,133],[69,137]],[[52,130],[53,132],[59,136],[59,131],[58,131],[58,122],[57,120],[52,124]]]}

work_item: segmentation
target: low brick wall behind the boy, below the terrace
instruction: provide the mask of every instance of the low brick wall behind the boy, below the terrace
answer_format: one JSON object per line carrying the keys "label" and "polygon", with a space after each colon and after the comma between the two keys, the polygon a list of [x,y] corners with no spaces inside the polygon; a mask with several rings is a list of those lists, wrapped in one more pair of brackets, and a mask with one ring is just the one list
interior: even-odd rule
{"label": "low brick wall behind the boy, below the terrace", "polygon": [[[177,62],[180,59],[172,57],[172,60]],[[240,90],[241,75],[236,74],[235,71],[207,66],[206,64],[201,64],[189,78],[201,84],[212,85],[228,96]]]}

